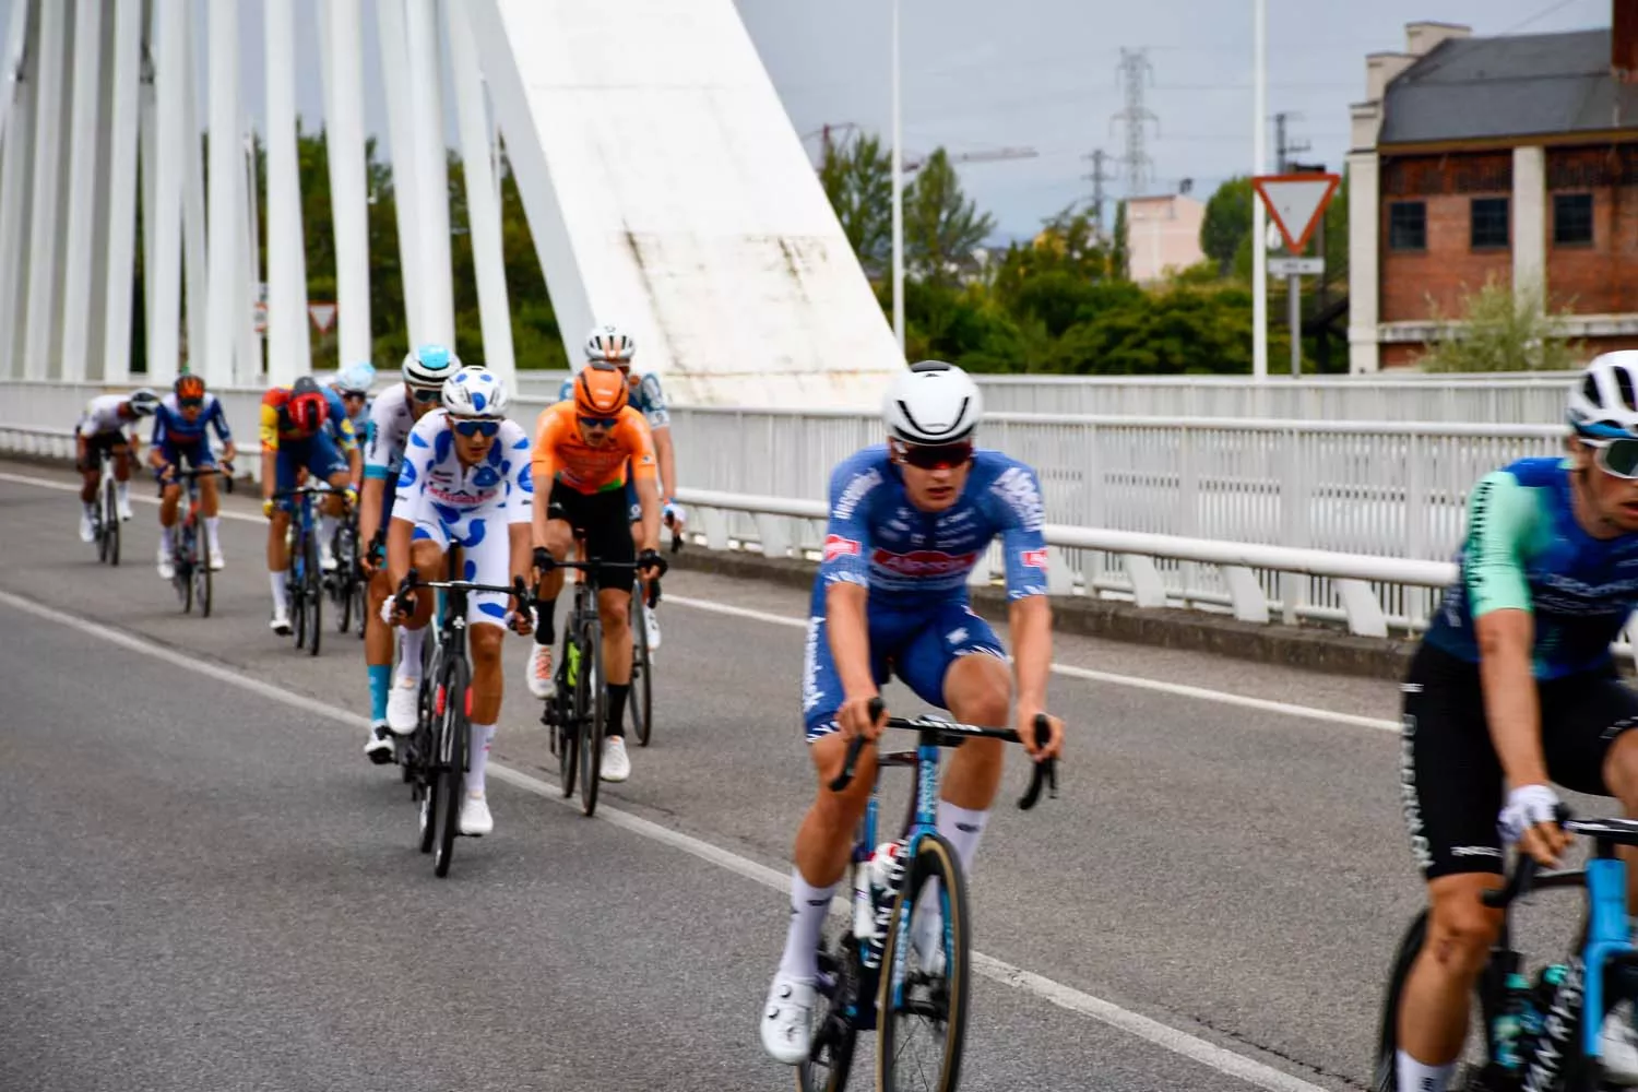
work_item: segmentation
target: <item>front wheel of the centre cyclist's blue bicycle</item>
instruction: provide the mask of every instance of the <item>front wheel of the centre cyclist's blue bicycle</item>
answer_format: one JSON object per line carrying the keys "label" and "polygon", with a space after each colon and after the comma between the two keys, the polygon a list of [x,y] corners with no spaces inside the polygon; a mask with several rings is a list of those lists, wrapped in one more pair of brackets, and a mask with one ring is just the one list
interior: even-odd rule
{"label": "front wheel of the centre cyclist's blue bicycle", "polygon": [[[937,889],[929,887],[937,881]],[[939,915],[925,951],[912,922]],[[955,1092],[962,1077],[970,972],[966,878],[939,835],[916,843],[893,902],[881,987],[876,994],[876,1087],[883,1092]]]}

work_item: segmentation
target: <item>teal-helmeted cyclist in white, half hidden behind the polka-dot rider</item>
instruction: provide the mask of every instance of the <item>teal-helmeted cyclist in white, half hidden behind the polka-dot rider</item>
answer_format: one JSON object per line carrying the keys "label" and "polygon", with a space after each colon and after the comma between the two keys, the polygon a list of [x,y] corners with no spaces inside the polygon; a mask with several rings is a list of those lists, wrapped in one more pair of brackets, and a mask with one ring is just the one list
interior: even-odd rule
{"label": "teal-helmeted cyclist in white, half hidden behind the polka-dot rider", "polygon": [[403,383],[370,403],[364,424],[364,491],[359,501],[359,544],[370,575],[370,609],[364,616],[364,670],[370,679],[370,730],[364,753],[372,763],[393,760],[387,727],[387,694],[393,688],[393,630],[382,620],[382,604],[393,593],[382,563],[387,524],[393,516],[393,483],[405,457],[410,429],[444,398],[444,381],[460,372],[460,359],[442,345],[419,345],[405,354]]}

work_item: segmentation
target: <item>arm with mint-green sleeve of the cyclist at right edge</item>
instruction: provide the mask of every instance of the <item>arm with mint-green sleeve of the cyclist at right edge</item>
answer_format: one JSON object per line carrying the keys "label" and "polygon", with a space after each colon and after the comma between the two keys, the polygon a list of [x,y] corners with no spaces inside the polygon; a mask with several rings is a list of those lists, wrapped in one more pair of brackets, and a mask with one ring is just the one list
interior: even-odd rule
{"label": "arm with mint-green sleeve of the cyclist at right edge", "polygon": [[1495,755],[1512,787],[1546,784],[1541,699],[1532,670],[1535,616],[1520,545],[1536,517],[1530,491],[1505,470],[1486,475],[1468,498],[1463,581],[1479,643],[1479,681]]}

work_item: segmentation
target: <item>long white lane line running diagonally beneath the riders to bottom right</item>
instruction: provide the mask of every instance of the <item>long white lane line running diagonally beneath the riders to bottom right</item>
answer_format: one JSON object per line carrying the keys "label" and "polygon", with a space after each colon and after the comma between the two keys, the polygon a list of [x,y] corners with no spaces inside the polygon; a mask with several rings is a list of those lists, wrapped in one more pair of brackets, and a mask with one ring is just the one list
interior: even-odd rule
{"label": "long white lane line running diagonally beneath the riders to bottom right", "polygon": [[[0,475],[0,476],[8,480],[13,478],[13,475]],[[33,614],[34,617],[44,619],[48,622],[56,622],[57,625],[66,625],[88,637],[95,637],[98,640],[110,642],[113,645],[120,645],[121,648],[128,648],[129,652],[152,657],[154,660],[161,660],[177,668],[187,671],[197,671],[219,683],[238,686],[239,689],[249,691],[260,697],[267,697],[270,701],[282,702],[285,706],[300,709],[303,712],[310,712],[319,717],[328,717],[339,724],[352,725],[357,729],[367,729],[370,724],[367,717],[360,717],[359,714],[347,712],[346,709],[339,709],[314,697],[295,694],[270,683],[251,678],[249,675],[234,671],[233,668],[224,668],[218,663],[195,660],[193,657],[174,652],[170,648],[164,648],[162,645],[151,643],[147,640],[143,640],[141,637],[134,637],[131,634],[110,629],[103,622],[92,622],[88,619],[82,619],[72,614],[64,614],[59,609],[48,607],[43,602],[25,599],[23,596],[16,596],[8,591],[0,591],[0,604],[10,606],[16,611],[23,611],[26,614]],[[549,786],[537,778],[531,778],[523,771],[513,769],[496,761],[491,761],[488,769],[493,776],[496,776],[501,781],[506,781],[514,787],[524,789],[547,801],[555,801],[565,807],[578,807],[575,801],[563,799],[562,792],[559,792],[554,786]],[[721,846],[711,845],[709,842],[704,842],[701,838],[695,838],[693,835],[681,833],[680,830],[670,830],[668,827],[662,827],[658,824],[649,822],[647,819],[632,815],[629,812],[622,812],[614,807],[608,807],[606,804],[598,807],[596,819],[609,822],[616,827],[629,830],[652,842],[658,842],[662,845],[668,845],[672,848],[690,853],[703,861],[709,861],[719,868],[724,868],[737,876],[744,876],[745,879],[758,882],[765,887],[771,887],[775,891],[781,891],[786,894],[790,892],[790,878],[786,874],[773,868],[768,868],[767,864],[760,864],[749,858],[739,856],[737,853],[731,853],[729,850],[724,850]],[[832,909],[837,909],[835,904],[832,904]],[[1142,1013],[1132,1012],[1130,1009],[1122,1009],[1114,1002],[1104,1000],[1101,997],[1093,997],[1091,994],[1078,990],[1073,986],[1065,986],[1063,982],[1057,982],[1032,971],[1025,971],[1002,959],[996,959],[994,956],[986,956],[981,951],[975,951],[971,954],[973,954],[973,969],[988,979],[1001,982],[1002,986],[1011,986],[1027,994],[1034,994],[1035,997],[1040,997],[1042,1000],[1058,1005],[1060,1009],[1065,1009],[1068,1012],[1076,1012],[1079,1015],[1097,1020],[1099,1023],[1109,1025],[1112,1028],[1133,1035],[1140,1040],[1153,1043],[1155,1046],[1171,1051],[1173,1054],[1181,1054],[1183,1058],[1189,1058],[1202,1066],[1207,1066],[1209,1069],[1215,1069],[1217,1072],[1237,1077],[1260,1089],[1268,1089],[1269,1092],[1325,1092],[1322,1085],[1310,1084],[1307,1081],[1302,1081],[1301,1077],[1294,1077],[1281,1069],[1274,1069],[1273,1066],[1266,1066],[1260,1061],[1247,1058],[1245,1054],[1238,1054],[1227,1048],[1217,1046],[1215,1043],[1202,1040],[1196,1035],[1189,1035],[1181,1028],[1174,1028],[1168,1023],[1161,1023]]]}

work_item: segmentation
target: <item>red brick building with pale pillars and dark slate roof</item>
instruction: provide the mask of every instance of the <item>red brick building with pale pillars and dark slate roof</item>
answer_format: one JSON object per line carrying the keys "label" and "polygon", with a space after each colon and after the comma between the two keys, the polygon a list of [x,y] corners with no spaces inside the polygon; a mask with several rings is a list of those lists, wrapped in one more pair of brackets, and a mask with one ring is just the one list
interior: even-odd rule
{"label": "red brick building with pale pillars and dark slate roof", "polygon": [[1433,309],[1500,278],[1638,349],[1638,0],[1612,29],[1471,38],[1412,23],[1366,57],[1348,154],[1350,372],[1415,362]]}

